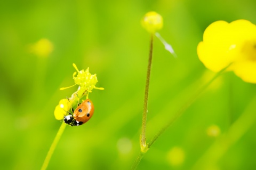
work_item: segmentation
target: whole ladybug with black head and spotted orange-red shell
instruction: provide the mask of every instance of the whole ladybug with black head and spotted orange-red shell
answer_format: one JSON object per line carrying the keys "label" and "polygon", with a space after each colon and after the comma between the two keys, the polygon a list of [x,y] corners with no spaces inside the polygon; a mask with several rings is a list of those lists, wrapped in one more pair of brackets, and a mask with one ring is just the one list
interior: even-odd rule
{"label": "whole ladybug with black head and spotted orange-red shell", "polygon": [[[73,109],[72,109],[73,110]],[[90,99],[86,99],[83,103],[79,104],[73,114],[64,116],[64,122],[70,126],[79,126],[86,123],[93,115],[94,106]]]}

